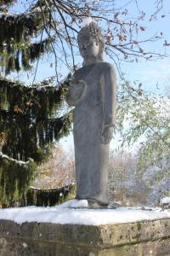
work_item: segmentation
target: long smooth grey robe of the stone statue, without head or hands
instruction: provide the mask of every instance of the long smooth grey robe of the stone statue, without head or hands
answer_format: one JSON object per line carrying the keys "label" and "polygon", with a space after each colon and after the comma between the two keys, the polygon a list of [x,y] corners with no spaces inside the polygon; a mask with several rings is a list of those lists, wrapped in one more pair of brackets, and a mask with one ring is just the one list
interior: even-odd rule
{"label": "long smooth grey robe of the stone statue, without head or hands", "polygon": [[77,83],[66,97],[75,106],[73,134],[77,199],[93,199],[109,204],[108,163],[110,143],[101,142],[102,129],[114,126],[116,118],[116,75],[107,62],[97,62],[77,70],[75,81],[85,84],[82,97],[74,98]]}

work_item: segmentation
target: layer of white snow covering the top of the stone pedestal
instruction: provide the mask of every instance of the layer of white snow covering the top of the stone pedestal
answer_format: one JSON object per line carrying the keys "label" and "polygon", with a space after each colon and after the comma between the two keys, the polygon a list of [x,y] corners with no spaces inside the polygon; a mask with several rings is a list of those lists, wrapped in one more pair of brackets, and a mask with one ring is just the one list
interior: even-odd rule
{"label": "layer of white snow covering the top of the stone pedestal", "polygon": [[56,207],[20,207],[0,210],[0,219],[13,220],[17,224],[24,222],[55,224],[120,224],[141,220],[170,218],[170,212],[160,208],[150,210],[142,208],[118,207],[116,209],[91,209],[88,201],[71,200]]}

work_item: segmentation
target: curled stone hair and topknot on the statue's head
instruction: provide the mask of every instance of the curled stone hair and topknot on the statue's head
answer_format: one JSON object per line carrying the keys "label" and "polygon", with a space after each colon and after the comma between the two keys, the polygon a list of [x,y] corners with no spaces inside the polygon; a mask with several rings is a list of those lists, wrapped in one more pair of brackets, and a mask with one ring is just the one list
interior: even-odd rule
{"label": "curled stone hair and topknot on the statue's head", "polygon": [[105,49],[105,40],[100,27],[94,21],[90,22],[88,26],[83,26],[82,29],[78,32],[78,35],[77,35],[78,44],[83,42],[83,38],[89,37],[89,36],[94,38],[99,43],[99,47],[100,47],[99,55],[102,60],[103,51]]}

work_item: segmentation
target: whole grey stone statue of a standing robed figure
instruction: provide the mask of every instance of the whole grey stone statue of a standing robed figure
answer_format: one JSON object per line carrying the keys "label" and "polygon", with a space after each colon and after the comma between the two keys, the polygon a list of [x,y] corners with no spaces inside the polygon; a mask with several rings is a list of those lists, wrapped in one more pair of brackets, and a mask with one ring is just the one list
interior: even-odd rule
{"label": "whole grey stone statue of a standing robed figure", "polygon": [[104,38],[92,21],[77,37],[83,66],[73,76],[66,102],[75,106],[77,199],[89,207],[107,207],[109,148],[116,123],[116,74],[103,61]]}

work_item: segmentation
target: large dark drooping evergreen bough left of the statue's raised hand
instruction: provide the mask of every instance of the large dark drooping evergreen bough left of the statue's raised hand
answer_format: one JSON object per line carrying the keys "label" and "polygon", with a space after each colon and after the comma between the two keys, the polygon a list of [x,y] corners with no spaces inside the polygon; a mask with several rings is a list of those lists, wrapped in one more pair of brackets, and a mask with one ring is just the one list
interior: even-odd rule
{"label": "large dark drooping evergreen bough left of the statue's raised hand", "polygon": [[31,157],[41,163],[54,140],[68,135],[72,114],[56,117],[65,84],[59,88],[42,84],[26,87],[2,79],[2,105],[8,106],[0,110],[0,132],[6,134],[3,154],[24,161]]}

